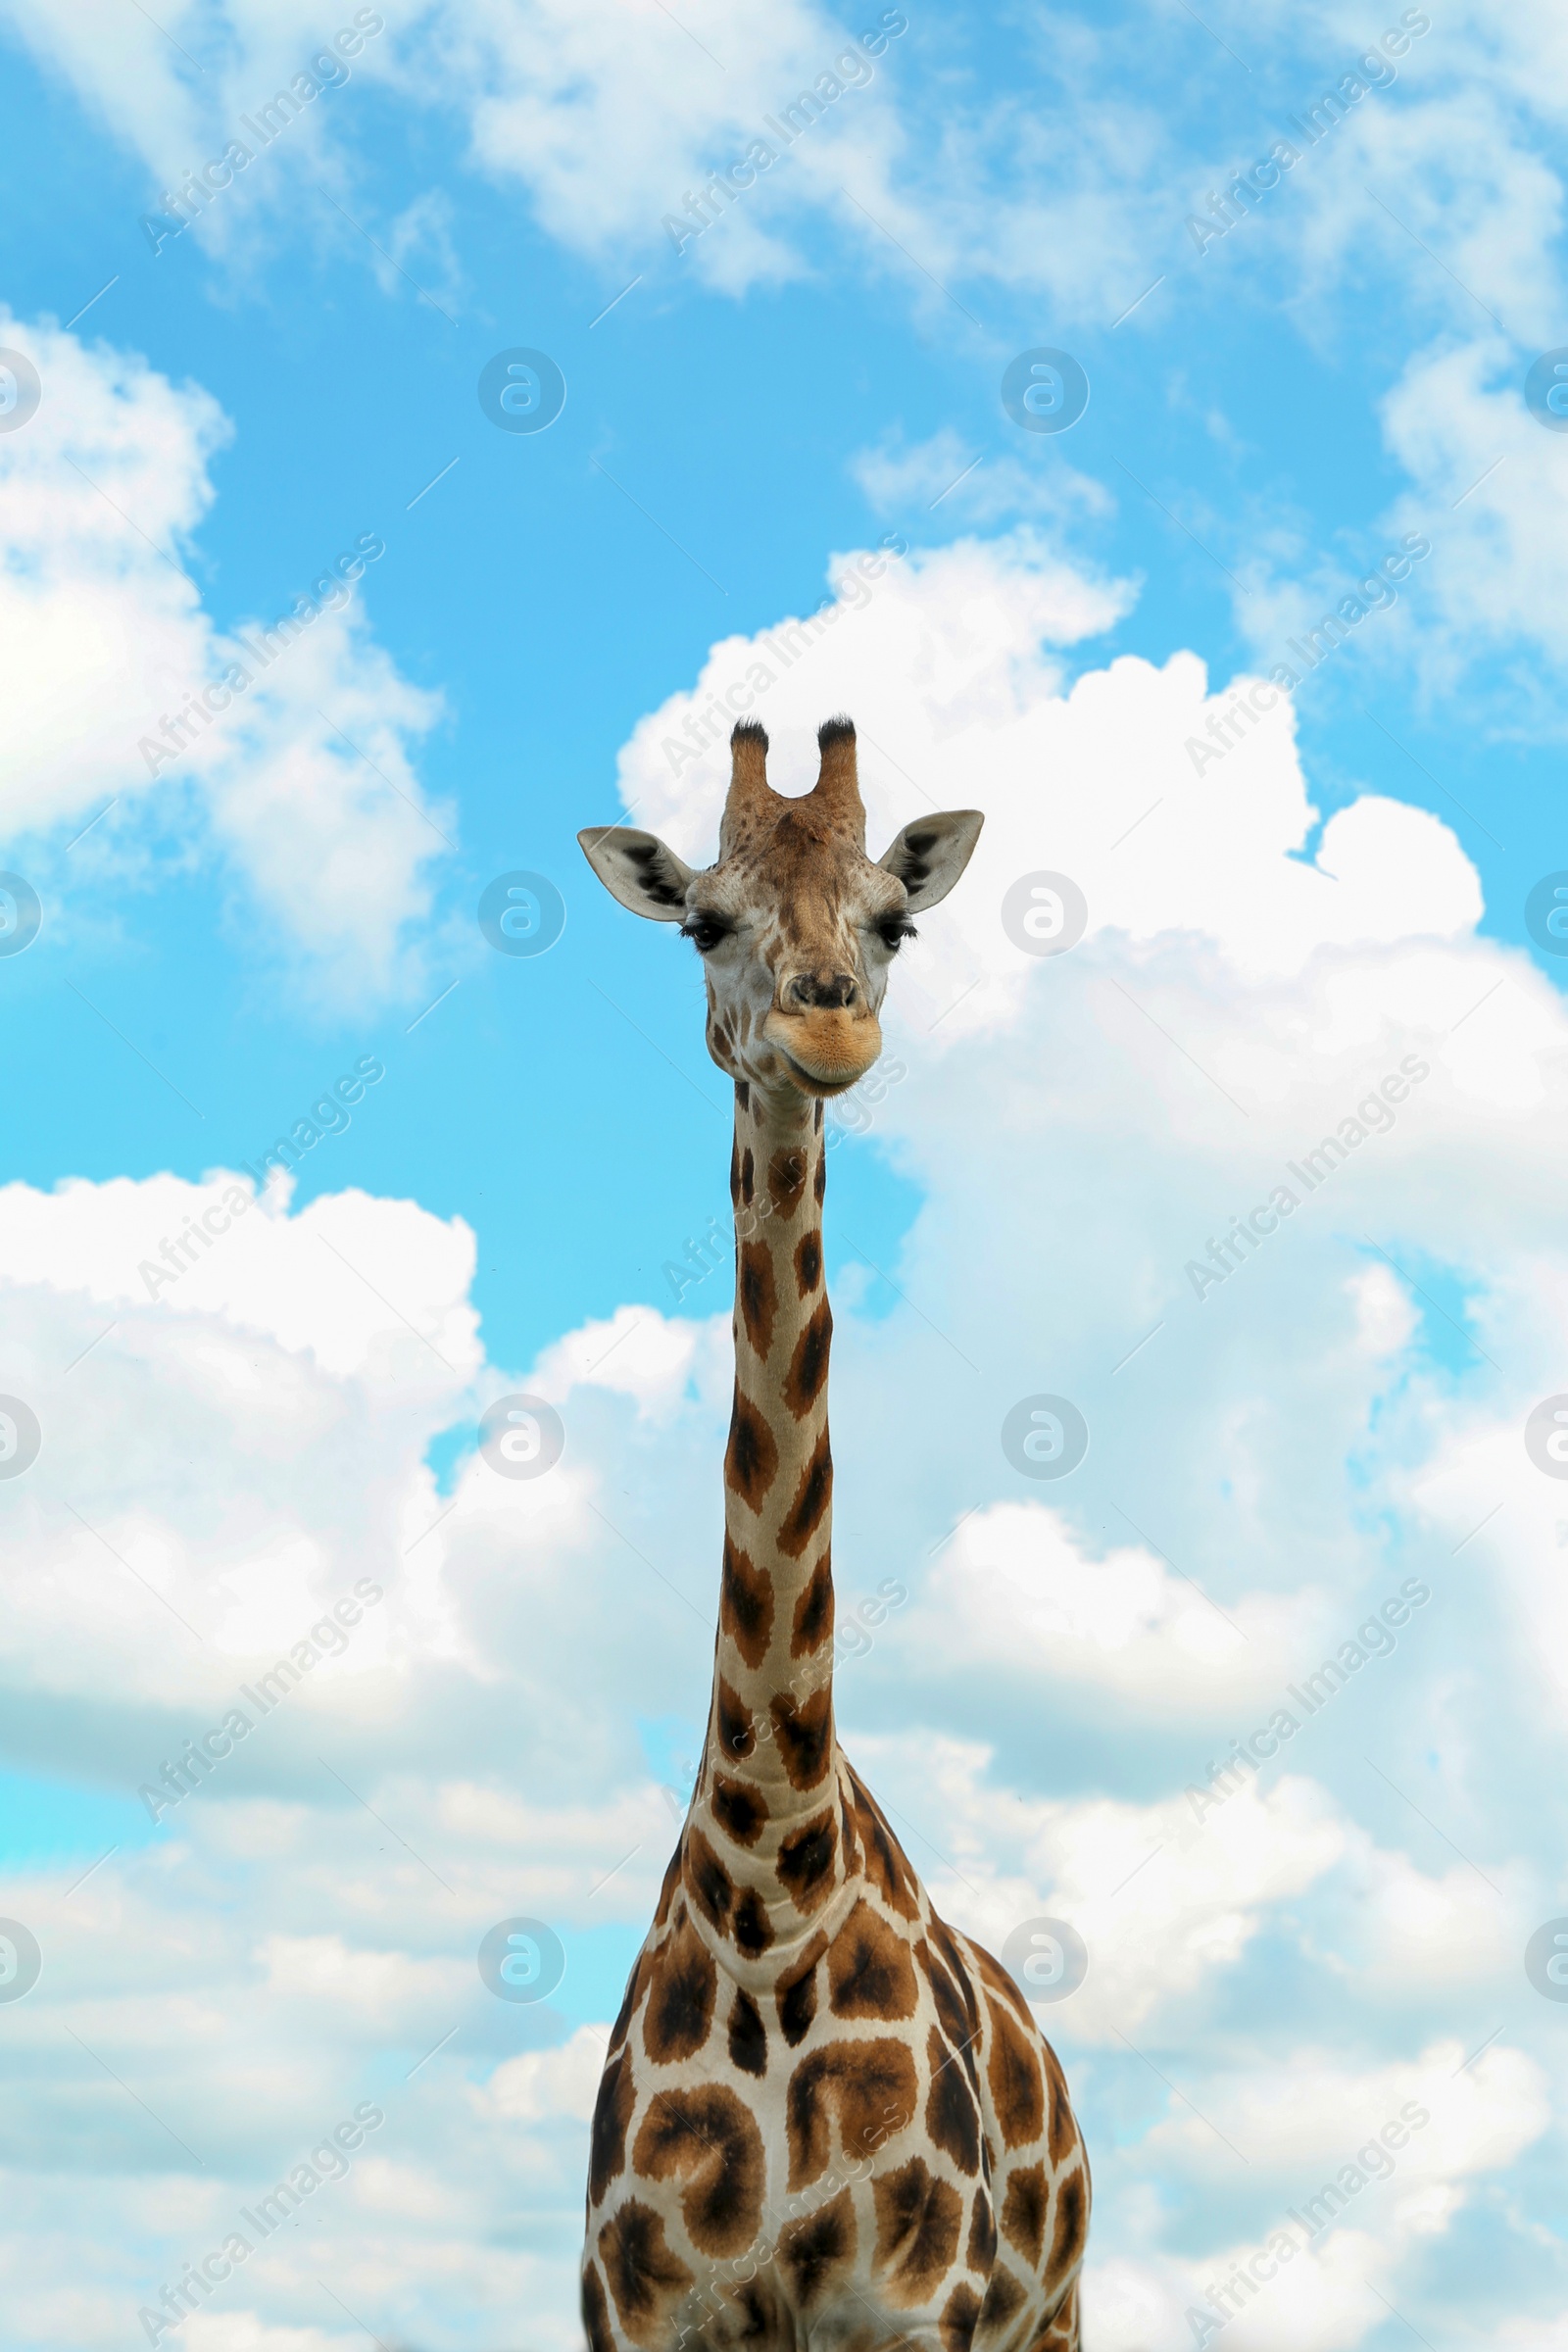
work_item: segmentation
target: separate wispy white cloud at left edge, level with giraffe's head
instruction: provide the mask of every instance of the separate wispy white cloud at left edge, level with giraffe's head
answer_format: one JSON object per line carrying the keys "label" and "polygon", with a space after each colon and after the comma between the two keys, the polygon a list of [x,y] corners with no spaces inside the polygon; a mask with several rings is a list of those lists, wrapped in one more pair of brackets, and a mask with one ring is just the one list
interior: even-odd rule
{"label": "separate wispy white cloud at left edge, level with giraffe's head", "polygon": [[45,386],[0,440],[7,854],[63,891],[66,840],[99,816],[78,866],[167,873],[195,830],[284,960],[339,1002],[409,985],[418,960],[400,964],[400,934],[428,913],[425,868],[447,847],[411,746],[440,706],[400,677],[339,576],[381,541],[322,546],[310,588],[221,628],[186,569],[228,437],[216,402],[47,325],[7,318],[0,336]]}

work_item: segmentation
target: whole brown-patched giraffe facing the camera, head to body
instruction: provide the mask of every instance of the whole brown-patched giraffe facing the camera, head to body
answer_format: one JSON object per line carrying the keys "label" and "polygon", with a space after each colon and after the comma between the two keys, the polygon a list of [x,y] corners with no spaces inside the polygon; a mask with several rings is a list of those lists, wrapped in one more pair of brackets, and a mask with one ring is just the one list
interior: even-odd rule
{"label": "whole brown-patched giraffe facing the camera, head to body", "polygon": [[811,793],[731,734],[719,858],[588,830],[621,906],[679,922],[733,1080],[736,1392],[712,1703],[590,2136],[590,2352],[1077,2352],[1088,2159],[1006,1971],[931,1907],[832,1717],[823,1103],[882,1051],[910,915],[980,814],[872,863],[856,729]]}

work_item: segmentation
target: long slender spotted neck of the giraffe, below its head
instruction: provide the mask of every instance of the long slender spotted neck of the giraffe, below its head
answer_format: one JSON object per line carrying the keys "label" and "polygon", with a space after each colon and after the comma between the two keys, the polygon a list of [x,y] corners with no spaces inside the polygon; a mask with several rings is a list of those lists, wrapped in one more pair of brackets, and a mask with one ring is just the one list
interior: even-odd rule
{"label": "long slender spotted neck of the giraffe, below its head", "polygon": [[[832,1726],[832,1456],[820,1103],[736,1087],[736,1402],[712,1708],[686,1877],[741,1973],[844,1886]],[[705,1900],[705,1882],[710,1900]]]}

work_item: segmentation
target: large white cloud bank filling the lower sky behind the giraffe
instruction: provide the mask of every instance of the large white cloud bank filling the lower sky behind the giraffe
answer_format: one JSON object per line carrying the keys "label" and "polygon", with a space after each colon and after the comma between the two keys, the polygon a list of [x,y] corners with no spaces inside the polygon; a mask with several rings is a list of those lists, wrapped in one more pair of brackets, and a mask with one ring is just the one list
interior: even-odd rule
{"label": "large white cloud bank filling the lower sky behind the giraffe", "polygon": [[[1107,2343],[1180,2333],[1222,2260],[1201,2249],[1267,2230],[1244,2199],[1232,2213],[1211,2126],[1284,2211],[1342,2161],[1340,2117],[1359,2145],[1385,2096],[1448,2067],[1453,2119],[1439,2131],[1429,2103],[1420,2161],[1302,2256],[1307,2300],[1234,2321],[1258,2345],[1349,2345],[1375,2317],[1356,2277],[1410,2307],[1420,2246],[1481,2178],[1528,2178],[1540,2140],[1523,2037],[1458,2070],[1502,1987],[1526,1999],[1519,1950],[1552,1910],[1519,1773],[1554,1736],[1568,1625],[1556,1489],[1521,1418],[1556,1378],[1568,1287],[1568,1035],[1530,967],[1476,938],[1441,826],[1361,800],[1314,830],[1288,706],[1199,776],[1187,739],[1213,741],[1229,696],[1192,656],[1070,680],[1119,597],[1027,543],[907,557],[759,696],[799,786],[853,687],[877,837],[933,802],[987,809],[990,863],[893,974],[910,1075],[872,1131],[922,1188],[898,1291],[879,1312],[839,1284],[842,1599],[884,1571],[910,1590],[844,1663],[839,1708],[961,1926],[1001,1945],[1067,1917],[1088,1943],[1088,1978],[1041,2020],[1091,2143],[1124,2150],[1100,2166]],[[766,642],[719,647],[625,748],[625,800],[691,854],[712,847],[722,760],[675,774],[661,743],[689,741],[686,715]],[[1001,927],[1037,868],[1081,880],[1070,955],[1030,957]],[[1408,1054],[1427,1077],[1392,1122],[1368,1110],[1199,1298],[1187,1261]],[[317,2279],[371,2326],[397,2312],[433,2336],[461,2279],[475,2343],[522,2310],[567,2352],[597,2034],[672,1842],[661,1757],[705,1705],[726,1315],[632,1301],[501,1367],[458,1221],[360,1192],[296,1216],[282,1185],[148,1298],[141,1263],[230,1190],[214,1171],[0,1195],[0,1385],[45,1428],[0,1484],[35,1562],[5,1670],[31,1679],[31,1764],[120,1806],[85,1884],[94,1851],[7,1891],[49,1969],[14,2011],[35,2037],[28,2131],[103,2218],[80,2274],[45,2190],[14,2183],[16,2230],[45,2249],[19,2326],[120,2340],[374,2098],[383,2136],[193,2340],[331,2340],[346,2321]],[[830,1223],[837,1197],[835,1174]],[[512,1390],[562,1414],[548,1477],[501,1477],[473,1446]],[[997,1435],[1041,1390],[1091,1425],[1053,1489]],[[1199,1818],[1187,1788],[1410,1576],[1429,1599],[1396,1642],[1368,1642]],[[343,1649],[153,1830],[136,1788],[357,1578],[383,1597]],[[1497,1693],[1507,1745],[1479,1729]],[[536,2009],[475,1969],[508,1917],[552,1922],[567,1950]],[[1258,2089],[1279,2074],[1284,2110]],[[1363,2220],[1373,2197],[1396,2227]]]}

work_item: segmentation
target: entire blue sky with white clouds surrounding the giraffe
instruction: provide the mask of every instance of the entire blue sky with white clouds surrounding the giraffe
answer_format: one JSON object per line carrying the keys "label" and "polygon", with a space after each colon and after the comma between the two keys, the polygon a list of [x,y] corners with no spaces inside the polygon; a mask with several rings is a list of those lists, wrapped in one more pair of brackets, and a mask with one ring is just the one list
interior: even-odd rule
{"label": "entire blue sky with white clouds surrounding the giraffe", "polygon": [[[9,2340],[146,2343],[381,2098],[183,2340],[578,2345],[602,2030],[705,1705],[726,1298],[665,1265],[724,1207],[729,1105],[689,950],[574,837],[635,809],[712,856],[722,762],[665,746],[837,595],[762,699],[773,779],[849,708],[875,851],[987,814],[832,1160],[842,1606],[910,1588],[846,1743],[966,1929],[1084,1931],[1041,2023],[1095,2164],[1093,2345],[1544,2352],[1568,2009],[1523,1952],[1568,1915],[1568,1503],[1523,1428],[1568,1388],[1568,1023],[1526,898],[1568,868],[1568,445],[1523,386],[1568,334],[1561,26],[360,21],[148,235],[355,12],[2,9],[0,346],[40,405],[0,433],[0,866],[42,927],[0,957],[0,1390],[45,1428],[0,1484],[0,1912],[45,1955],[0,2004]],[[548,430],[480,402],[512,348],[564,374]],[[1088,379],[1065,433],[1001,402],[1039,348]],[[355,541],[348,602],[148,774]],[[1335,612],[1215,757],[1237,682]],[[564,898],[538,957],[477,924],[515,870]],[[1070,955],[1004,934],[1037,870],[1088,898]],[[1307,1195],[1288,1164],[1410,1056]],[[294,1185],[150,1298],[162,1237],[364,1061]],[[567,1454],[503,1484],[475,1428],[520,1388]],[[1058,1486],[999,1446],[1034,1392],[1091,1425]],[[153,1823],[148,1773],[357,1578],[386,1597],[341,1658]],[[1396,1646],[1194,1813],[1408,1578]],[[559,1933],[550,2002],[484,1992],[508,1917]],[[1206,2305],[1410,2100],[1291,2284]]]}

